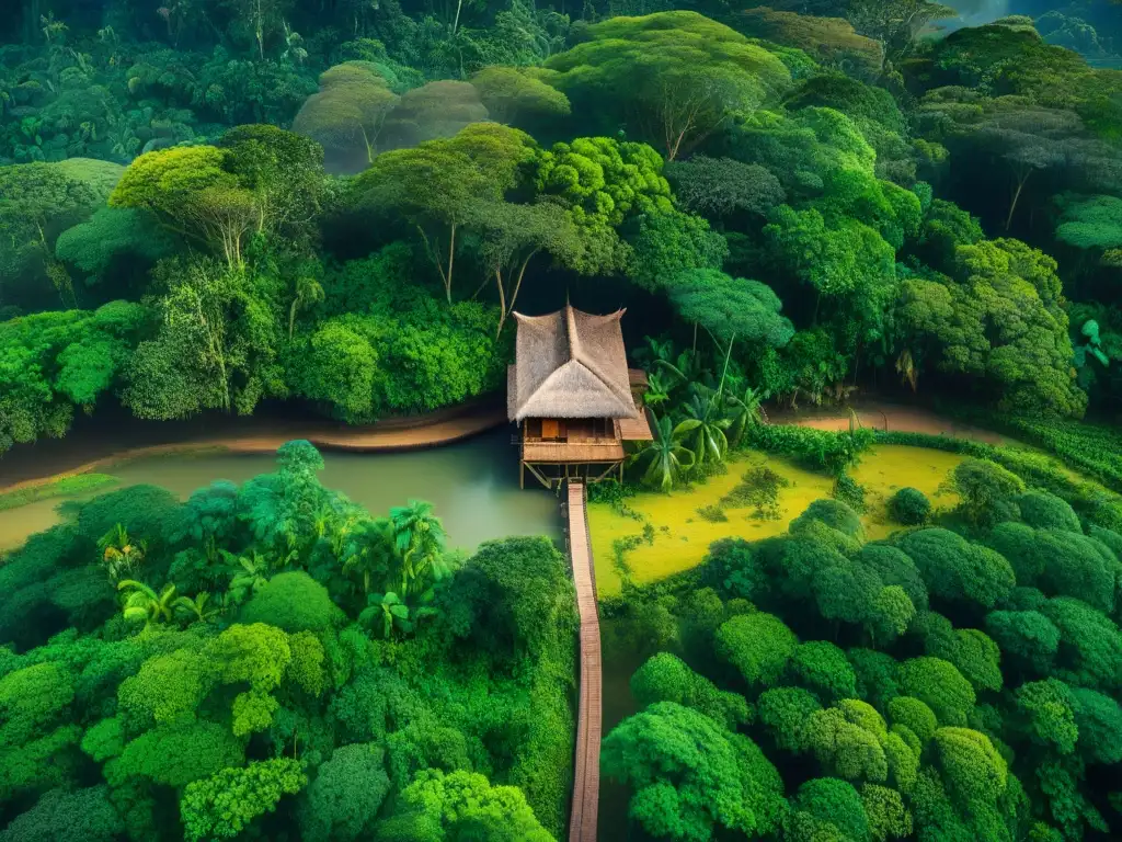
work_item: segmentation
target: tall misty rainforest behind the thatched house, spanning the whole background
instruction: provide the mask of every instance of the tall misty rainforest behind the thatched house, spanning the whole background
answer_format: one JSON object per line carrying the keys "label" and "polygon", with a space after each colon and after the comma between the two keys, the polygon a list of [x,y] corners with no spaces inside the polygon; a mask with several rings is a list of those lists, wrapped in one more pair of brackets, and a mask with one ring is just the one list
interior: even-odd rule
{"label": "tall misty rainforest behind the thatched house, spanning the whole background", "polygon": [[22,0],[0,27],[0,449],[108,403],[457,403],[502,387],[515,308],[567,295],[791,404],[1116,408],[1118,4]]}

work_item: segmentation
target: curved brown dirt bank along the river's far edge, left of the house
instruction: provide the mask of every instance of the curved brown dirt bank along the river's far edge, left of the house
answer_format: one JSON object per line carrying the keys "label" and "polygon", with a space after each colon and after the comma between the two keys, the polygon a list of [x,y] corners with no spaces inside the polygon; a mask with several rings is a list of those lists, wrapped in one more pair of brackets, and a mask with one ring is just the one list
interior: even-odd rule
{"label": "curved brown dirt bank along the river's far edge, left of the house", "polygon": [[[270,430],[254,431],[248,434],[220,433],[199,436],[185,441],[147,447],[127,448],[108,456],[66,467],[46,477],[35,477],[4,484],[0,479],[0,492],[45,485],[65,476],[86,474],[121,461],[149,456],[169,454],[224,450],[238,454],[273,452],[286,441],[307,439],[313,445],[331,450],[392,451],[416,450],[441,445],[451,445],[506,423],[506,410],[495,401],[473,402],[462,406],[441,410],[429,415],[389,419],[377,424],[348,427],[340,423],[284,423],[277,422]],[[2,467],[2,463],[0,463]]]}

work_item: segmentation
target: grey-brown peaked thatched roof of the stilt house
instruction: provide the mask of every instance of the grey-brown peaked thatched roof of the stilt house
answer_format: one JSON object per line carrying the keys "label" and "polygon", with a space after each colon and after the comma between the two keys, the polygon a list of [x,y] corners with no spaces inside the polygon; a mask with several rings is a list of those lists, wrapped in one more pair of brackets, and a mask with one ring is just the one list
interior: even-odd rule
{"label": "grey-brown peaked thatched roof of the stilt house", "polygon": [[518,321],[515,364],[507,374],[507,414],[526,418],[635,418],[619,319],[565,305]]}

